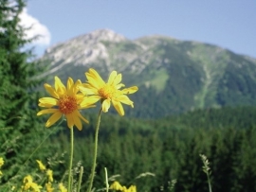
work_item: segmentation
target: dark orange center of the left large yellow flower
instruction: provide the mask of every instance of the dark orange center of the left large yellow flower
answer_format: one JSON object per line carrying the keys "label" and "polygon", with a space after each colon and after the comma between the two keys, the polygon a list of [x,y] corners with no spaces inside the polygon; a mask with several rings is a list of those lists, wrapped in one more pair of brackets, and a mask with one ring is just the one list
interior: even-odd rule
{"label": "dark orange center of the left large yellow flower", "polygon": [[69,114],[78,109],[77,99],[73,96],[62,96],[59,99],[59,110],[61,113]]}

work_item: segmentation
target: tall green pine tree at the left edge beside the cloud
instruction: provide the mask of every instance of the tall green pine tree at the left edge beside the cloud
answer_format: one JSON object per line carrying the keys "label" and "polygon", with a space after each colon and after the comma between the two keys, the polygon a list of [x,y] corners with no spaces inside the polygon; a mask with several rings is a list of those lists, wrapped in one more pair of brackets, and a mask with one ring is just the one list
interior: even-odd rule
{"label": "tall green pine tree at the left edge beside the cloud", "polygon": [[[37,122],[38,65],[32,62],[26,28],[20,26],[24,0],[0,0],[0,155],[6,159],[2,182],[20,174],[46,129]],[[41,71],[42,72],[42,71]]]}

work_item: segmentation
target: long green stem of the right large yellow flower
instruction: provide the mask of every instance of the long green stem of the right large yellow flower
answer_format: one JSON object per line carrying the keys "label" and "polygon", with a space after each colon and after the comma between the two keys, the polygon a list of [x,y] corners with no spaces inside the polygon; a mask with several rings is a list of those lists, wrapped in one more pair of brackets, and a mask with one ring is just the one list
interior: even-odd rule
{"label": "long green stem of the right large yellow flower", "polygon": [[90,183],[89,183],[89,187],[87,189],[87,192],[91,192],[92,185],[93,185],[93,180],[94,180],[94,176],[95,176],[96,161],[97,161],[97,150],[98,150],[98,135],[99,135],[100,124],[101,124],[101,113],[102,113],[102,108],[101,108],[101,110],[98,114],[98,121],[97,121],[97,125],[96,125],[95,144],[94,144],[94,158],[93,158],[93,165],[92,165],[91,176],[90,176]]}

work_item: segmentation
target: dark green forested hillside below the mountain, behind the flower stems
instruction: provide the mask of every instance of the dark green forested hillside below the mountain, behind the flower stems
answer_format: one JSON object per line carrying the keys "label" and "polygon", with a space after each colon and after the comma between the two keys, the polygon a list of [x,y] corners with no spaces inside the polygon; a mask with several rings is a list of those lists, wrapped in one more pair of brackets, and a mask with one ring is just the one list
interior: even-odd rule
{"label": "dark green forested hillside below the mountain, behind the flower stems", "polygon": [[[104,114],[95,186],[104,184],[107,167],[109,176],[119,174],[116,180],[136,184],[137,191],[156,192],[161,186],[168,191],[173,180],[174,191],[208,191],[199,156],[205,154],[213,191],[254,191],[255,115],[256,108],[250,107],[200,110],[159,120]],[[89,119],[89,126],[75,132],[75,162],[84,166],[84,180],[90,172],[96,115]],[[67,151],[65,131],[52,137],[58,151]],[[56,168],[61,170],[60,165]],[[141,173],[147,176],[136,179]]]}

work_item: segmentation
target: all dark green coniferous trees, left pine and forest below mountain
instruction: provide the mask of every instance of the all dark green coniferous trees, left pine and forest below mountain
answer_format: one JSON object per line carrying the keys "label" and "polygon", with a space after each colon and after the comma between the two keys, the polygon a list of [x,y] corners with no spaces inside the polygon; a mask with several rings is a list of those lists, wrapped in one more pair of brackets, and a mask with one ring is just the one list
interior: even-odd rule
{"label": "all dark green coniferous trees, left pine and forest below mountain", "polygon": [[[36,78],[45,69],[33,61],[31,50],[22,49],[31,41],[24,38],[26,28],[19,26],[18,15],[26,4],[14,2],[0,1],[0,191],[64,191],[45,189],[46,178],[39,169],[53,171],[52,185],[66,185],[70,129],[65,119],[46,128],[48,116],[36,115],[38,99],[46,95],[40,87],[47,79]],[[139,94],[143,93],[138,88]],[[81,191],[88,185],[97,127],[97,113],[84,116],[90,123],[83,123],[82,131],[74,130],[72,168],[72,183],[78,183],[83,166]],[[138,192],[209,191],[200,157],[204,154],[210,162],[212,191],[256,191],[255,116],[252,106],[194,110],[157,119],[103,113],[93,188],[105,190],[106,168],[109,184],[136,185]],[[45,169],[38,168],[37,160]],[[28,174],[34,182],[41,181],[42,188],[26,189]]]}

